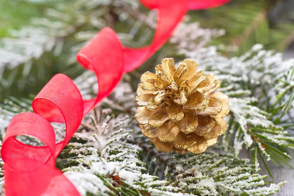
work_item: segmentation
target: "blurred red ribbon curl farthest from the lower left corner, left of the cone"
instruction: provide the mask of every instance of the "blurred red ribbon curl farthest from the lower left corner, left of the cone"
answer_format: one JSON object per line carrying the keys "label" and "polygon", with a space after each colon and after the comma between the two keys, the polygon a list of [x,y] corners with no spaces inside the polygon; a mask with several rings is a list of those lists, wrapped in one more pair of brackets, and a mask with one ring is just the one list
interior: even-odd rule
{"label": "blurred red ribbon curl farthest from the lower left corner, left of the cone", "polygon": [[84,100],[86,114],[121,80],[124,66],[122,44],[117,34],[105,27],[77,53],[76,58],[83,67],[94,71],[98,80],[97,98]]}

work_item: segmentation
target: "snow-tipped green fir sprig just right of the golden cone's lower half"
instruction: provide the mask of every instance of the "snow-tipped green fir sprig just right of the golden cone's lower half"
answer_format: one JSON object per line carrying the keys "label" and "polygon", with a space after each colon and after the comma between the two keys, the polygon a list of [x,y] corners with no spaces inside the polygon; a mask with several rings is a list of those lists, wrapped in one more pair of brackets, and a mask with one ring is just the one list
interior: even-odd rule
{"label": "snow-tipped green fir sprig just right of the golden cone's lower half", "polygon": [[[262,152],[268,160],[271,160],[270,155],[279,159],[282,162],[291,159],[291,156],[286,152],[277,150],[278,147],[293,148],[294,137],[289,135],[289,132],[284,130],[282,126],[275,125],[268,120],[270,114],[252,105],[252,102],[257,101],[255,98],[231,98],[231,122],[228,131],[228,138],[234,136],[234,146],[236,155],[245,144],[246,148],[253,144]],[[228,143],[229,145],[229,143]],[[287,163],[287,161],[286,161]]]}

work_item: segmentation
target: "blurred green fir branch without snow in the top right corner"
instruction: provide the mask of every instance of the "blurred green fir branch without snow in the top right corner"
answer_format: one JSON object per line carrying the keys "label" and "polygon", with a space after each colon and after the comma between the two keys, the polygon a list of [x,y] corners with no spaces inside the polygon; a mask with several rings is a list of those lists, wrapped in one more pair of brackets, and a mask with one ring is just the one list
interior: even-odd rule
{"label": "blurred green fir branch without snow in the top right corner", "polygon": [[[287,4],[280,2],[276,8],[281,8],[283,3]],[[289,5],[286,6],[289,8]],[[255,44],[263,44],[266,49],[284,51],[291,44],[293,17],[281,17],[285,14],[284,10],[277,14],[277,10],[272,8],[272,1],[234,0],[216,9],[196,11],[193,17],[203,28],[213,27],[226,31],[226,35],[212,41],[214,46],[231,46],[233,50],[223,52],[226,55],[242,55]],[[292,15],[291,11],[289,8],[289,16]]]}

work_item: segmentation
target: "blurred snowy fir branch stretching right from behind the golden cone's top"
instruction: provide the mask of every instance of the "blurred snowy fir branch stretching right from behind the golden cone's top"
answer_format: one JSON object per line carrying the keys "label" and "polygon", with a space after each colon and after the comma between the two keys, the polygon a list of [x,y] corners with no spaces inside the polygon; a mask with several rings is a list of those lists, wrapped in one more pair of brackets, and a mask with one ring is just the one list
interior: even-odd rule
{"label": "blurred snowy fir branch stretching right from behind the golden cone's top", "polygon": [[284,60],[281,53],[263,50],[260,44],[256,44],[240,57],[232,58],[221,55],[216,46],[178,52],[196,60],[200,68],[205,71],[241,77],[244,82],[251,84],[263,82],[274,85],[279,77],[294,68],[294,59]]}

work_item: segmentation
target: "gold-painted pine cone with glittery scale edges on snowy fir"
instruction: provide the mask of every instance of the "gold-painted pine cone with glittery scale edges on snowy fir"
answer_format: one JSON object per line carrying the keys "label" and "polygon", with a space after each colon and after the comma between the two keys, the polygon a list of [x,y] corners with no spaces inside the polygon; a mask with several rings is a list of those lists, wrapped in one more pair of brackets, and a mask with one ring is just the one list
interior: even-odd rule
{"label": "gold-painted pine cone with glittery scale edges on snowy fir", "polygon": [[229,113],[229,98],[219,78],[197,72],[197,63],[185,59],[176,69],[172,58],[146,72],[138,85],[135,115],[142,133],[159,151],[204,152],[226,131],[222,119]]}

